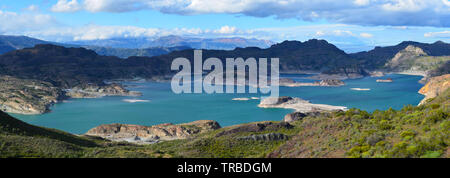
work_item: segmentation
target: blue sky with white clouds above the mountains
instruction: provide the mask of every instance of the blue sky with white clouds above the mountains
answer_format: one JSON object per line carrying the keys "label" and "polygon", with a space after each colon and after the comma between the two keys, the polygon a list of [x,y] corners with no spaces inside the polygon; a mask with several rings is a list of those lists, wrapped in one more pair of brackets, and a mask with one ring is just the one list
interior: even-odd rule
{"label": "blue sky with white clouds above the mountains", "polygon": [[180,35],[326,39],[346,51],[450,42],[449,0],[0,0],[0,34],[51,41]]}

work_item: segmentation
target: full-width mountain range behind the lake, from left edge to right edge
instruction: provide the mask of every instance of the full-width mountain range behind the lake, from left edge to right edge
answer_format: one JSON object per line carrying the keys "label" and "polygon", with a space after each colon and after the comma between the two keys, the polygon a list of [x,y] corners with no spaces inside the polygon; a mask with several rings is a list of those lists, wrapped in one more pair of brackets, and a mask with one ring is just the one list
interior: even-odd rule
{"label": "full-width mountain range behind the lake, from left edge to right edge", "polygon": [[[105,79],[152,78],[170,75],[173,73],[170,71],[173,59],[186,57],[193,60],[194,54],[193,49],[188,47],[174,47],[160,51],[159,56],[121,59],[96,53],[96,51],[108,50],[105,47],[96,47],[95,51],[82,47],[67,48],[28,37],[18,37],[10,42],[3,42],[3,44],[13,44],[16,48],[32,46],[36,43],[47,44],[1,55],[0,74],[44,80],[56,86],[73,87],[80,82],[98,83]],[[12,45],[10,46],[13,48]],[[265,49],[238,47],[234,50],[203,50],[203,59],[209,57],[222,60],[229,57],[280,58],[280,72],[313,71],[344,78],[356,78],[369,75],[368,73],[372,70],[389,72],[390,68],[386,67],[386,64],[408,46],[420,48],[427,56],[450,55],[450,44],[440,41],[433,44],[402,42],[396,46],[377,47],[367,52],[347,54],[325,40],[312,39],[305,42],[284,41]],[[127,57],[127,55],[121,57]],[[433,67],[441,71],[435,73],[448,73],[446,59],[445,57],[441,60],[443,64]]]}

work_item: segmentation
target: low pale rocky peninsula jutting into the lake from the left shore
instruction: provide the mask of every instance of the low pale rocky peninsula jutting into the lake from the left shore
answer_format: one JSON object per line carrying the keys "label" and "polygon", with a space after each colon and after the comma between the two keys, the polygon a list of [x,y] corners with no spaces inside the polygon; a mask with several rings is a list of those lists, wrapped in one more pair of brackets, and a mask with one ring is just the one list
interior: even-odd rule
{"label": "low pale rocky peninsula jutting into the lake from the left shore", "polygon": [[139,92],[129,91],[120,84],[83,84],[66,90],[71,98],[99,98],[104,96],[140,96]]}

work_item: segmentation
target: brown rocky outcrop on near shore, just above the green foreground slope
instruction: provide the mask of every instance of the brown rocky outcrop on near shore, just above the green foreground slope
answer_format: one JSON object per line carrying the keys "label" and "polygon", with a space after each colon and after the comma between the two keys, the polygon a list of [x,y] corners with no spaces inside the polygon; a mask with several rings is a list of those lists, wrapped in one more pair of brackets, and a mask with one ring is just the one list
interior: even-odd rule
{"label": "brown rocky outcrop on near shore, just above the green foreground slope", "polygon": [[85,135],[98,136],[112,141],[155,143],[164,140],[185,139],[192,135],[219,129],[216,121],[200,120],[186,124],[160,124],[142,126],[131,124],[107,124],[92,128]]}

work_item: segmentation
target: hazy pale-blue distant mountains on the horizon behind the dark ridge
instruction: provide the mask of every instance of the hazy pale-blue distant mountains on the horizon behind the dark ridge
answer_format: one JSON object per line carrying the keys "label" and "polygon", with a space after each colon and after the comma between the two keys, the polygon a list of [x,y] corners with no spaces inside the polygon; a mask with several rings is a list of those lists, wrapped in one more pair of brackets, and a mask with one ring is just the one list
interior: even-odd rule
{"label": "hazy pale-blue distant mountains on the horizon behind the dark ridge", "polygon": [[273,42],[267,40],[244,39],[244,38],[186,38],[179,36],[166,36],[155,40],[147,38],[115,38],[107,40],[89,40],[72,42],[50,42],[30,38],[26,36],[6,36],[0,35],[0,54],[34,47],[37,44],[54,44],[64,47],[83,47],[91,49],[99,55],[116,56],[127,58],[130,56],[158,56],[168,54],[172,51],[183,49],[227,49],[236,47],[258,46],[261,48],[270,47]]}

